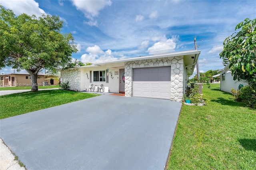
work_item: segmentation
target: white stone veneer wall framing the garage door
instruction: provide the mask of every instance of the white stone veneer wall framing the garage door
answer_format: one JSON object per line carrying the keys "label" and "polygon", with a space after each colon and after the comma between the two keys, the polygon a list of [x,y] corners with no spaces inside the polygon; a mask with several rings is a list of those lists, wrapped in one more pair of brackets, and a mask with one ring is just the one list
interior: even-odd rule
{"label": "white stone veneer wall framing the garage door", "polygon": [[128,61],[124,63],[125,96],[132,96],[132,68],[171,66],[171,98],[180,102],[183,97],[183,56]]}

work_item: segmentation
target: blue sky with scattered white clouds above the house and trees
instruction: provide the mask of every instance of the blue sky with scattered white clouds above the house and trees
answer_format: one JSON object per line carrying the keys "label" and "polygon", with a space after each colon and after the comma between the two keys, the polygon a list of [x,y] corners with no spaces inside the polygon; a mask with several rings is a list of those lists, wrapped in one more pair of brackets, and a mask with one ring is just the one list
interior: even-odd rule
{"label": "blue sky with scattered white clouds above the house and trees", "polygon": [[0,4],[16,15],[60,16],[62,32],[71,32],[77,45],[72,57],[84,63],[194,50],[196,36],[200,72],[224,68],[219,57],[224,39],[245,18],[256,18],[254,0],[1,0]]}

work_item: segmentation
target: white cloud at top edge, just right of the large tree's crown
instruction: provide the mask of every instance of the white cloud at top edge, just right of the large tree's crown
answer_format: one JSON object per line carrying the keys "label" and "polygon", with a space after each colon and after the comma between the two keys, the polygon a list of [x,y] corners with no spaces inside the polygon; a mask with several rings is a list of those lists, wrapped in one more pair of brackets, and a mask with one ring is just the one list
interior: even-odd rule
{"label": "white cloud at top edge, just right of the large tree's crown", "polygon": [[77,10],[84,12],[87,18],[98,16],[105,6],[111,6],[110,0],[72,0]]}

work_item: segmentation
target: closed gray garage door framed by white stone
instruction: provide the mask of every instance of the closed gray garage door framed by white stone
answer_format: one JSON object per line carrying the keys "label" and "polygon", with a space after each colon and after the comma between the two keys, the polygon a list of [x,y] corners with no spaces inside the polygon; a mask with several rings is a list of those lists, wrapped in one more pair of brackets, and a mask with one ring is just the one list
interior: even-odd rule
{"label": "closed gray garage door framed by white stone", "polygon": [[134,68],[133,96],[170,99],[171,67]]}

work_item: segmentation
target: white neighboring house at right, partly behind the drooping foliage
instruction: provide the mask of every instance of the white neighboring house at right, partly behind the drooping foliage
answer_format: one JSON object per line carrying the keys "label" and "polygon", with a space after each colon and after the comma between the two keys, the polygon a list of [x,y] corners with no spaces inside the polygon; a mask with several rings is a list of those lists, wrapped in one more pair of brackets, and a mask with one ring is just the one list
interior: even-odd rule
{"label": "white neighboring house at right, partly behind the drooping foliage", "polygon": [[230,72],[229,64],[227,64],[220,72],[220,90],[224,92],[231,93],[231,89],[234,88],[238,90],[238,86],[242,84],[246,85],[246,82],[241,82],[238,80],[233,80],[233,76]]}

